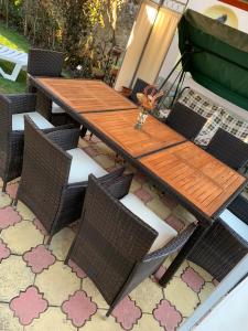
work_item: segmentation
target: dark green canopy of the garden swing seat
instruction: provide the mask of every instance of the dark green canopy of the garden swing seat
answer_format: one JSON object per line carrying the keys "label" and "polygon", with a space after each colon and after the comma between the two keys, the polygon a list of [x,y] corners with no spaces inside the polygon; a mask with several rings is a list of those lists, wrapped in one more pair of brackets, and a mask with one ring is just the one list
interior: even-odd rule
{"label": "dark green canopy of the garden swing seat", "polygon": [[188,9],[179,35],[193,79],[248,110],[248,34]]}

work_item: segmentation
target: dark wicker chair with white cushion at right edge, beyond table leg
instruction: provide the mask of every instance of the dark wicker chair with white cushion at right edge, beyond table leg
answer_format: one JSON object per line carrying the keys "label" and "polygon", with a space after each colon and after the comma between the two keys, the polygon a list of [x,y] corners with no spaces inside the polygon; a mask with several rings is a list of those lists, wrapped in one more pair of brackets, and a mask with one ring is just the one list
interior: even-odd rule
{"label": "dark wicker chair with white cushion at right edge, beyond table leg", "polygon": [[248,200],[239,195],[187,257],[218,281],[248,254]]}

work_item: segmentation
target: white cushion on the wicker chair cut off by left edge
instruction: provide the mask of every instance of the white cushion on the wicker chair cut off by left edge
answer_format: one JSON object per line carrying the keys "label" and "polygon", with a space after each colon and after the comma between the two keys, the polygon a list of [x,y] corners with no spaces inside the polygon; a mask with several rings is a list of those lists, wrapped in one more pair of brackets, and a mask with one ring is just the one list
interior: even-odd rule
{"label": "white cushion on the wicker chair cut off by left edge", "polygon": [[40,113],[22,113],[12,115],[12,130],[13,131],[23,131],[24,130],[24,115],[29,115],[29,117],[35,122],[39,129],[51,129],[54,126],[45,119]]}

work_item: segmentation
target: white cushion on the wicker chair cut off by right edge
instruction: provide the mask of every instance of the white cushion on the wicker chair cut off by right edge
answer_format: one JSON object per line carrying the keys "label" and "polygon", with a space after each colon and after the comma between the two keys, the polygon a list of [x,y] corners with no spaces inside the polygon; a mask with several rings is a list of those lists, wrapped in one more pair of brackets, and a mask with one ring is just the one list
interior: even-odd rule
{"label": "white cushion on the wicker chair cut off by right edge", "polygon": [[225,210],[219,217],[233,228],[241,238],[248,242],[248,225],[235,216],[230,211]]}

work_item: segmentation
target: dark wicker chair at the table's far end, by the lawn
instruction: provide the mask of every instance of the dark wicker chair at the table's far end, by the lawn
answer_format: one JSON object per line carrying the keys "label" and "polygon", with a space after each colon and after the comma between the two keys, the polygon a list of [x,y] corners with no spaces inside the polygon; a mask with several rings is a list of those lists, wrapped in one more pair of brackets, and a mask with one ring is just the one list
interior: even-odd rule
{"label": "dark wicker chair at the table's far end, by the lawn", "polygon": [[[61,77],[64,64],[64,54],[62,52],[31,49],[28,60],[28,90],[36,93],[36,88],[30,85],[29,76],[42,77]],[[39,111],[54,125],[76,124],[55,103],[52,103],[45,95],[37,92]]]}

